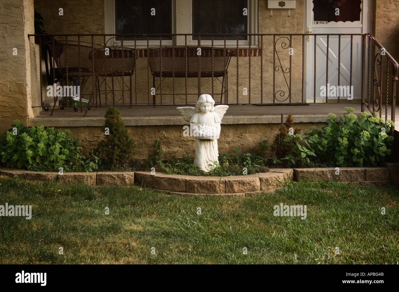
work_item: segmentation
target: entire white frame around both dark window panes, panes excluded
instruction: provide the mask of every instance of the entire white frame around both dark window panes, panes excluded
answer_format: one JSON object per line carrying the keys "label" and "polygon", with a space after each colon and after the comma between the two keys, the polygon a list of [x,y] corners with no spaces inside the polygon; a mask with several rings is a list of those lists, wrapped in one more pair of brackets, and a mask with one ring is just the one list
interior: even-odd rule
{"label": "entire white frame around both dark window panes, panes excluded", "polygon": [[[258,0],[248,1],[248,32],[258,33]],[[178,15],[179,17],[176,17]],[[105,34],[115,34],[115,0],[104,0],[104,31]],[[187,33],[192,34],[192,0],[172,0],[172,33]],[[114,43],[121,46],[121,41],[109,40],[111,36],[106,37],[107,46],[112,46]],[[259,46],[258,37],[250,37],[251,46]],[[240,48],[249,46],[248,40],[238,41]],[[175,45],[184,46],[184,35],[175,37]],[[198,41],[192,38],[192,35],[187,36],[187,45],[198,45]],[[210,47],[211,40],[201,40],[201,47]],[[124,47],[134,47],[134,40],[124,40]],[[162,40],[162,47],[172,46],[172,40]],[[224,40],[213,40],[214,47],[223,47]],[[136,40],[136,48],[146,48],[146,40]],[[159,40],[148,40],[148,47],[159,47]],[[226,40],[227,48],[237,47],[237,40]]]}

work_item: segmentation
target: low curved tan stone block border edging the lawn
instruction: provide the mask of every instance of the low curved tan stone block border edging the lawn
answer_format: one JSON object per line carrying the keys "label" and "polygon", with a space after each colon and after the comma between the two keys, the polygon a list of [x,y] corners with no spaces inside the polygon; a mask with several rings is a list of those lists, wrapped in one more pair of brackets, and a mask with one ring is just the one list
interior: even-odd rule
{"label": "low curved tan stone block border edging the lawn", "polygon": [[88,185],[144,186],[169,194],[182,195],[235,195],[248,196],[281,188],[284,180],[308,179],[339,180],[361,185],[387,186],[389,170],[386,167],[340,167],[270,169],[269,172],[236,176],[188,176],[144,171],[132,172],[37,172],[0,168],[0,174],[20,176],[28,180],[59,180],[82,182]]}

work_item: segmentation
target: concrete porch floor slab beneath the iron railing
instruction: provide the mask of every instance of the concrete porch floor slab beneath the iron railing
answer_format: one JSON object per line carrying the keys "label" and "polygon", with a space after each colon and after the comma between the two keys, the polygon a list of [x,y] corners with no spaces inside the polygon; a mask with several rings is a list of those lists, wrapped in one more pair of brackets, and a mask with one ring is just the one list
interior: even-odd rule
{"label": "concrete porch floor slab beneath the iron railing", "polygon": [[[187,122],[180,116],[176,107],[184,105],[158,105],[153,106],[117,106],[121,112],[122,120],[126,126],[137,125],[185,125]],[[320,123],[325,122],[328,113],[343,116],[346,112],[345,107],[350,106],[355,109],[355,114],[360,114],[360,103],[318,103],[300,106],[253,106],[238,105],[229,106],[222,123],[223,124],[253,124],[253,123],[280,123],[280,115],[285,117],[292,112],[296,123]],[[29,120],[30,126],[44,125],[46,127],[79,127],[79,126],[103,126],[105,122],[105,112],[108,106],[91,106],[91,110],[84,117],[83,112],[74,112],[73,108],[66,107],[60,110],[57,106],[53,116],[50,116],[51,108],[48,112],[40,112],[40,115]],[[391,106],[388,106],[388,118],[390,117]],[[385,108],[382,116],[385,117]],[[399,122],[399,114],[395,115],[396,123]],[[399,126],[399,124],[397,124]],[[397,127],[399,129],[399,127]]]}

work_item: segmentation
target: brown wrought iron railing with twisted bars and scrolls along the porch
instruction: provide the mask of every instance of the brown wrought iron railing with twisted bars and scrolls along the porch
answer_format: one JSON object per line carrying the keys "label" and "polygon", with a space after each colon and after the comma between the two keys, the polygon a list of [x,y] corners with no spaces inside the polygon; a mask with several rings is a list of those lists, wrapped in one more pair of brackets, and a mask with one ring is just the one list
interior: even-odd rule
{"label": "brown wrought iron railing with twisted bars and scrolls along the porch", "polygon": [[[40,75],[40,105],[34,107],[49,110],[47,105],[52,104],[51,115],[57,102],[61,108],[71,104],[75,111],[79,106],[81,112],[85,111],[84,116],[87,116],[91,106],[193,104],[204,91],[213,96],[215,92],[220,92],[221,104],[354,102],[351,98],[343,99],[340,94],[336,98],[329,94],[320,98],[317,94],[316,84],[328,87],[334,77],[332,75],[337,74],[329,72],[331,59],[337,59],[337,90],[340,86],[352,88],[352,84],[357,82],[361,84],[361,98],[358,97],[362,111],[367,108],[370,112],[379,112],[381,116],[385,102],[386,120],[390,102],[391,120],[395,119],[399,66],[369,34],[248,34],[245,35],[248,40],[255,40],[255,43],[249,41],[246,45],[242,45],[241,36],[244,35],[207,35],[208,39],[202,45],[201,35],[196,35],[193,45],[192,34],[168,34],[157,35],[159,45],[156,47],[149,46],[149,39],[154,38],[154,35],[149,34],[28,36],[39,39],[40,59],[46,61],[47,82],[43,82]],[[227,36],[229,39],[234,36],[236,41],[226,42]],[[332,38],[336,40],[335,45],[338,38],[338,52],[332,51]],[[168,39],[167,47],[165,39]],[[344,48],[341,46],[342,40],[347,43]],[[354,76],[353,67],[359,67],[359,59],[354,60],[354,48],[357,53],[361,52],[360,78]],[[311,63],[313,66],[309,65]],[[40,72],[41,67],[40,62]],[[345,70],[345,76],[342,70]],[[229,71],[233,78],[228,78]],[[320,81],[324,74],[325,83]],[[80,86],[79,97],[67,100],[61,96],[51,96],[50,100],[45,100],[42,85],[53,85],[63,80],[68,86],[71,78],[74,78],[74,85]],[[159,82],[156,82],[157,78]],[[181,84],[180,88],[176,86],[180,78],[184,78],[184,89]],[[193,84],[191,78],[196,78],[197,84]],[[361,80],[354,80],[356,78]],[[88,81],[91,81],[91,88],[85,87]],[[82,98],[82,95],[87,98]],[[215,100],[219,102],[218,98]]]}

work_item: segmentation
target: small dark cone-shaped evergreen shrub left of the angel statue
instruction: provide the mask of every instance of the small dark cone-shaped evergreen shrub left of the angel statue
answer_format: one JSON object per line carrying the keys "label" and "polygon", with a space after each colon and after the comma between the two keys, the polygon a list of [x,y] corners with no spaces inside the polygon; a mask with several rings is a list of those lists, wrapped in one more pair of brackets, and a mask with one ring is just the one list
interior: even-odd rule
{"label": "small dark cone-shaped evergreen shrub left of the angel statue", "polygon": [[136,144],[129,137],[129,133],[120,118],[120,111],[110,106],[105,113],[105,128],[109,128],[109,135],[101,140],[96,152],[103,159],[103,166],[107,169],[123,169],[134,155]]}

